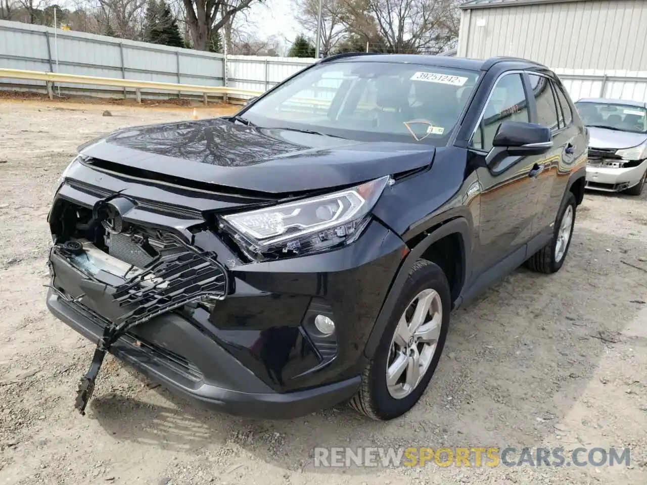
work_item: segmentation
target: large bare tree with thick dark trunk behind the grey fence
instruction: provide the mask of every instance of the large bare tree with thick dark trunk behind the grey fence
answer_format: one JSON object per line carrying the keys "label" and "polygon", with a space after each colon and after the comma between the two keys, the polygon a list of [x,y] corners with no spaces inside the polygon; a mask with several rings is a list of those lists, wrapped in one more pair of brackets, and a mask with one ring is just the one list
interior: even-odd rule
{"label": "large bare tree with thick dark trunk behind the grey fence", "polygon": [[208,50],[213,32],[220,30],[238,12],[261,1],[263,0],[182,0],[193,48]]}

